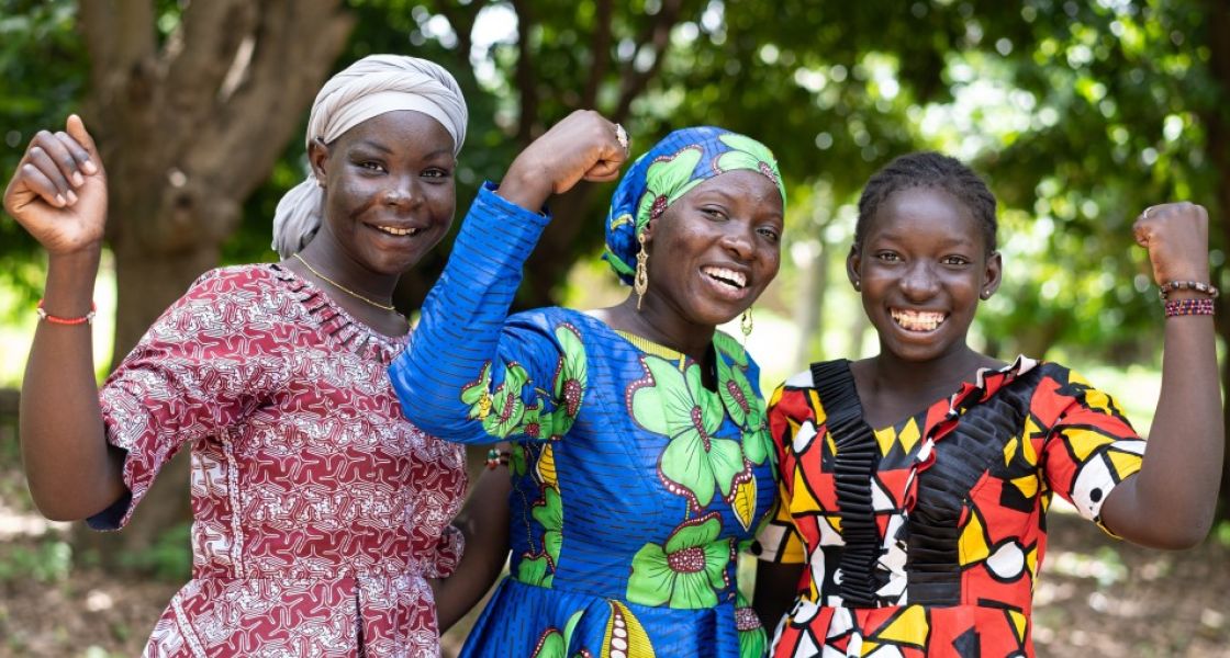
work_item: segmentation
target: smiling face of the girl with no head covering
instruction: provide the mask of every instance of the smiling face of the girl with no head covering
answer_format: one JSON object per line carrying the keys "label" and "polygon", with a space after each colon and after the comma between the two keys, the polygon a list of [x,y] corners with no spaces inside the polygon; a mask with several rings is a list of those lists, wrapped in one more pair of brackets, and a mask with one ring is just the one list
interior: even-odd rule
{"label": "smiling face of the girl with no head covering", "polygon": [[968,206],[914,187],[879,205],[846,268],[882,354],[932,361],[968,350],[978,301],[999,287],[1001,261]]}

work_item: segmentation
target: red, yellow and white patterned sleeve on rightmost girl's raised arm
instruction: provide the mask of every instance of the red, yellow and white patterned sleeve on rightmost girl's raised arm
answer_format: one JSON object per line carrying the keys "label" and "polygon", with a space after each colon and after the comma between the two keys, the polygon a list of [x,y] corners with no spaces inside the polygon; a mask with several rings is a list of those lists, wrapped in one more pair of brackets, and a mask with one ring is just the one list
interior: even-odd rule
{"label": "red, yellow and white patterned sleeve on rightmost girl's raised arm", "polygon": [[1054,492],[1101,525],[1107,496],[1140,470],[1145,441],[1109,395],[1074,372],[1066,379],[1047,394],[1063,411],[1047,435],[1043,471]]}

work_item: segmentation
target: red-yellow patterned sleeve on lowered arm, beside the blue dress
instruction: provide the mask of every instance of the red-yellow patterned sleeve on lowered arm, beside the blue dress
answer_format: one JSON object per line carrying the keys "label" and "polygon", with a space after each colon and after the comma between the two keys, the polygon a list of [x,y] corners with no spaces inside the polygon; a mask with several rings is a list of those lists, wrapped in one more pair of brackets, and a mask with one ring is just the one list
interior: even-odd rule
{"label": "red-yellow patterned sleeve on lowered arm, beside the blue dress", "polygon": [[[766,562],[801,565],[807,561],[803,538],[791,516],[793,490],[791,484],[800,468],[798,460],[791,452],[791,444],[801,425],[798,420],[791,420],[790,409],[792,404],[800,403],[806,405],[806,399],[797,393],[787,392],[785,384],[777,387],[769,399],[769,431],[777,454],[777,501],[756,534],[759,546],[756,557]],[[807,426],[814,427],[811,422]],[[797,476],[801,478],[802,474]]]}

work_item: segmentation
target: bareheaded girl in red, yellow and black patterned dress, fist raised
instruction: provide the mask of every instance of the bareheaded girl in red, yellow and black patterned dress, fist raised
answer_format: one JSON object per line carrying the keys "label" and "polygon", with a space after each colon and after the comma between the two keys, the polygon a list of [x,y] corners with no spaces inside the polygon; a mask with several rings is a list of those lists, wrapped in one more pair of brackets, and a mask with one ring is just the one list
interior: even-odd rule
{"label": "bareheaded girl in red, yellow and black patterned dress, fist raised", "polygon": [[863,190],[847,271],[879,354],[815,363],[770,403],[781,501],[755,605],[777,625],[774,656],[1032,656],[1054,494],[1148,546],[1209,529],[1225,439],[1204,209],[1154,206],[1134,228],[1166,298],[1146,453],[1076,373],[966,343],[1000,285],[995,205],[937,153],[900,157]]}

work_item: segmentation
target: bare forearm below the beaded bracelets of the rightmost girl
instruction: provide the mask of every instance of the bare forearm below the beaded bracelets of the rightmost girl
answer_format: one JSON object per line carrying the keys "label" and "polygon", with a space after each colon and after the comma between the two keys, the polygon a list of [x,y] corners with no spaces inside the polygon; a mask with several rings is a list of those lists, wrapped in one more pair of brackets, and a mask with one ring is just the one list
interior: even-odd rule
{"label": "bare forearm below the beaded bracelets of the rightmost girl", "polygon": [[1111,492],[1103,523],[1148,546],[1199,543],[1213,522],[1224,449],[1213,318],[1168,318],[1145,458],[1140,471]]}

